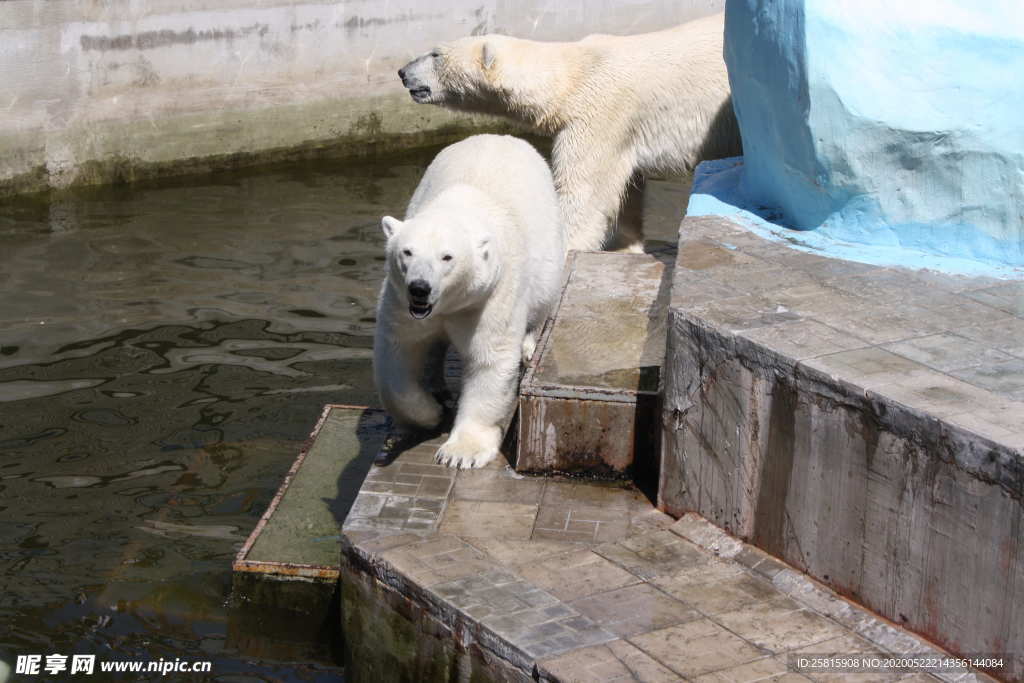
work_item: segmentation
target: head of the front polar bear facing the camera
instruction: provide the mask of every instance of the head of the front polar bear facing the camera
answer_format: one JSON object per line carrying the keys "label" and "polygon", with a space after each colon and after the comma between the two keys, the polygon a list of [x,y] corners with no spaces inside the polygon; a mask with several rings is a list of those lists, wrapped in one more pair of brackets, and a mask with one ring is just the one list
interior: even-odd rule
{"label": "head of the front polar bear facing the camera", "polygon": [[480,225],[471,211],[381,220],[388,283],[414,318],[453,313],[485,300],[500,266],[490,236]]}

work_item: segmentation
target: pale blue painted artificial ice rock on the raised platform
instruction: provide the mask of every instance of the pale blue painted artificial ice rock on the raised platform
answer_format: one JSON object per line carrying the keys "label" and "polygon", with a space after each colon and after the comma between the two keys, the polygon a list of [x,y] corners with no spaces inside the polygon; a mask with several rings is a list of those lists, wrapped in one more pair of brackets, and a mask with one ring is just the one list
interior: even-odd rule
{"label": "pale blue painted artificial ice rock on the raised platform", "polygon": [[728,0],[725,56],[746,204],[1024,266],[1020,0]]}

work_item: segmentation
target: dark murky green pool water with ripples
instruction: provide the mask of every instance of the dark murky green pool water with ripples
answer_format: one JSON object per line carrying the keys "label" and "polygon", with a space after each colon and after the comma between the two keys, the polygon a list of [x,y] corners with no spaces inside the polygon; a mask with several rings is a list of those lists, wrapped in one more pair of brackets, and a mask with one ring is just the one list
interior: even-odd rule
{"label": "dark murky green pool water with ripples", "polygon": [[324,403],[375,402],[379,219],[431,157],[0,206],[0,659],[337,680],[230,642],[230,562]]}

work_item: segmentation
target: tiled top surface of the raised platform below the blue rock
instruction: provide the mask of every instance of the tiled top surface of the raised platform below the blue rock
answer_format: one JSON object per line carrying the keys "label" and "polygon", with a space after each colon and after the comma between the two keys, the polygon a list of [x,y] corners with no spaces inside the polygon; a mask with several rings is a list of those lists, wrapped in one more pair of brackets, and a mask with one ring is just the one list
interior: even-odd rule
{"label": "tiled top surface of the raised platform below the blue rock", "polygon": [[806,368],[1024,447],[1024,283],[841,261],[688,217],[672,306]]}

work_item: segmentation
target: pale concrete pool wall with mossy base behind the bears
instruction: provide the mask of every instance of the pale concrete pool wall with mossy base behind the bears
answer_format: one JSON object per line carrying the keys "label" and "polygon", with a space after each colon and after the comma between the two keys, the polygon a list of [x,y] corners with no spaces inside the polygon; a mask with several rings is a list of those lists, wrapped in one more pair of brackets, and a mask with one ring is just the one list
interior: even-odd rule
{"label": "pale concrete pool wall with mossy base behind the bears", "polygon": [[500,32],[638,33],[722,0],[7,0],[0,196],[443,141],[493,122],[414,104],[395,71]]}

